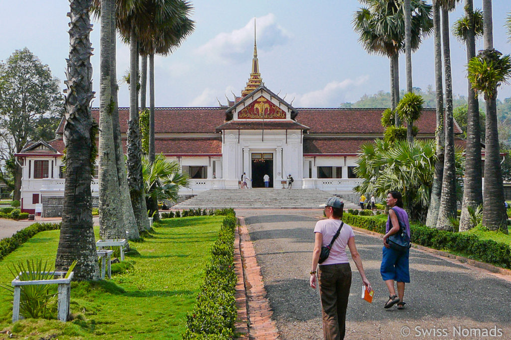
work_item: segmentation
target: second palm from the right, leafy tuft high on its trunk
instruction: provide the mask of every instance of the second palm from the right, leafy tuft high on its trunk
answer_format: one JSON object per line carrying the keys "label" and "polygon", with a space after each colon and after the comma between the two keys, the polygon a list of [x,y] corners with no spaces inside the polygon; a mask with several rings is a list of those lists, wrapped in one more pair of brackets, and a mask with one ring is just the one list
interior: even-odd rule
{"label": "second palm from the right, leafy tuft high on its trunk", "polygon": [[[465,0],[465,15],[454,25],[454,35],[466,43],[467,62],[476,55],[475,39],[482,36],[483,14],[474,11],[472,0]],[[482,205],[482,161],[481,161],[481,128],[479,121],[479,103],[472,84],[468,81],[467,108],[467,146],[465,150],[466,172],[463,184],[463,199],[461,201],[461,216],[459,230],[464,231],[473,227],[469,208],[474,210]]]}

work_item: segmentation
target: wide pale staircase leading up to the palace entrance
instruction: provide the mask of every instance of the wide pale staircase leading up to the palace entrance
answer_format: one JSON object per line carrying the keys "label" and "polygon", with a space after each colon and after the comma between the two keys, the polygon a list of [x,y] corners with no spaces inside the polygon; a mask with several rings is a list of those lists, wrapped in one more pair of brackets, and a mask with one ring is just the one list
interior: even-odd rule
{"label": "wide pale staircase leading up to the palace entrance", "polygon": [[[218,189],[208,190],[189,198],[172,209],[320,209],[320,204],[333,195],[318,189]],[[341,197],[342,199],[342,197]],[[344,210],[360,208],[344,201]]]}

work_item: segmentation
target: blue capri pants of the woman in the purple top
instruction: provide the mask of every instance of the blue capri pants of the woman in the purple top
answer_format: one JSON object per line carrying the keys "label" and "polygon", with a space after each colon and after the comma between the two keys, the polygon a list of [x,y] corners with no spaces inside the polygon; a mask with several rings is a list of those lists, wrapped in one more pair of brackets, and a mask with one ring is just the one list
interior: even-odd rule
{"label": "blue capri pants of the woman in the purple top", "polygon": [[406,251],[397,251],[391,248],[383,247],[382,265],[380,274],[382,279],[394,280],[397,282],[410,282],[410,270],[408,268],[408,256],[410,249]]}

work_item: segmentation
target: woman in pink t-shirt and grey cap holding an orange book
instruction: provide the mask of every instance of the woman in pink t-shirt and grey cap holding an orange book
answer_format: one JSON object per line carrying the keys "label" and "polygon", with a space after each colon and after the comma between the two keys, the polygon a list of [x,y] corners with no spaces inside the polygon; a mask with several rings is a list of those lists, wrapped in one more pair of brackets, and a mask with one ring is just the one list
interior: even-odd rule
{"label": "woman in pink t-shirt and grey cap holding an orange book", "polygon": [[[327,219],[318,221],[314,227],[315,242],[312,253],[310,285],[316,288],[316,266],[318,265],[321,247],[332,241],[341,226],[344,203],[337,197],[327,200],[324,213]],[[323,319],[323,336],[325,339],[343,339],[346,330],[346,308],[352,280],[350,261],[346,254],[346,246],[362,277],[368,291],[371,290],[369,280],[365,277],[362,259],[355,246],[355,234],[351,226],[342,224],[339,236],[330,249],[329,257],[319,265],[319,295]]]}

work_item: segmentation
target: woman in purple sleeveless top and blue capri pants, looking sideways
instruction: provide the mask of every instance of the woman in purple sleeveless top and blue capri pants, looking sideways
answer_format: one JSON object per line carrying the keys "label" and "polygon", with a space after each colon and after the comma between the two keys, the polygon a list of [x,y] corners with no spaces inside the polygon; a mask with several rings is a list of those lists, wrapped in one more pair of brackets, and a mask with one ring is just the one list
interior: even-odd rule
{"label": "woman in purple sleeveless top and blue capri pants, looking sideways", "polygon": [[[383,308],[388,309],[397,304],[398,309],[404,309],[405,283],[410,283],[410,270],[408,266],[410,249],[406,249],[406,251],[394,250],[388,245],[387,239],[400,230],[399,221],[404,223],[405,231],[409,238],[410,223],[408,221],[408,214],[403,209],[403,196],[399,191],[390,191],[387,194],[387,206],[389,208],[388,219],[385,229],[386,233],[383,236],[384,247],[380,274],[387,285],[389,297]],[[394,289],[394,281],[397,281],[397,295]]]}

